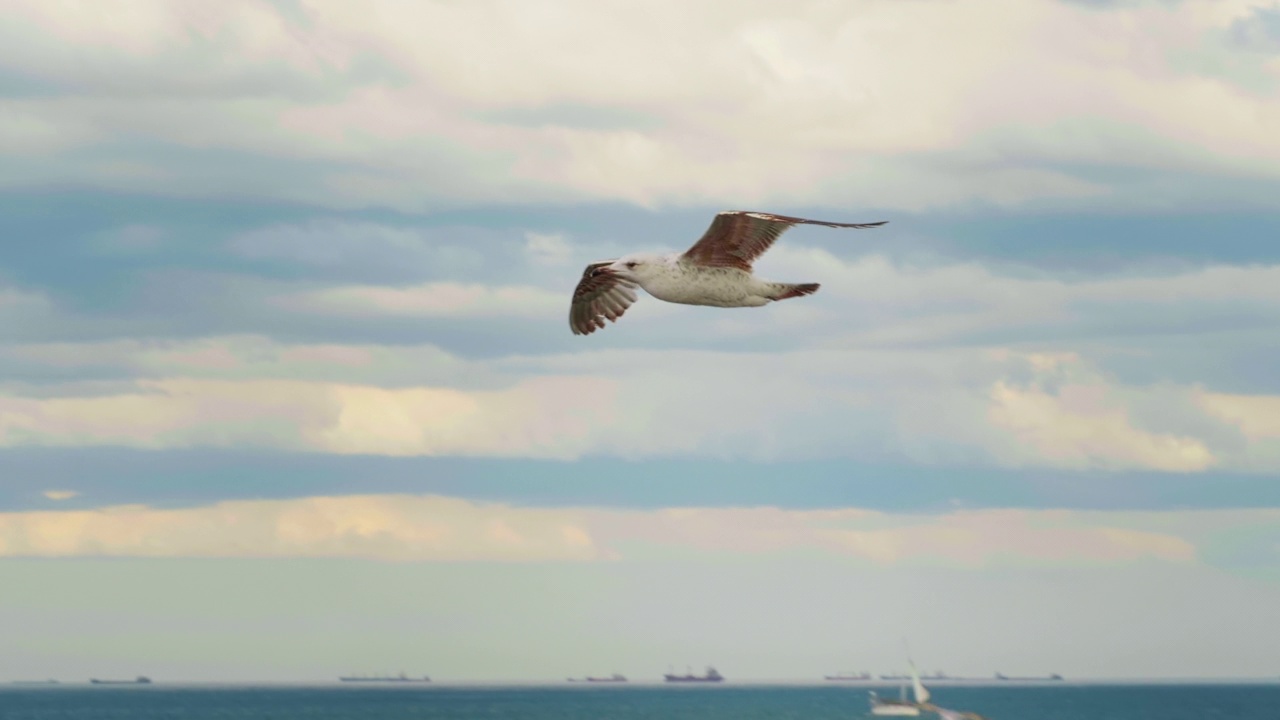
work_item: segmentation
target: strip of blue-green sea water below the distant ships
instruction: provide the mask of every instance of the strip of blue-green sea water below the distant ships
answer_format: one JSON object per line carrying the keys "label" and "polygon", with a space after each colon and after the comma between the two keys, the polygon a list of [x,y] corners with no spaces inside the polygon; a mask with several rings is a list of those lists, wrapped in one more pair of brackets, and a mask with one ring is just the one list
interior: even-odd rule
{"label": "strip of blue-green sea water below the distant ships", "polygon": [[[892,694],[892,693],[891,693]],[[991,720],[1280,720],[1280,683],[942,687]],[[867,688],[78,687],[0,688],[0,720],[852,720]],[[936,717],[922,715],[924,719]]]}

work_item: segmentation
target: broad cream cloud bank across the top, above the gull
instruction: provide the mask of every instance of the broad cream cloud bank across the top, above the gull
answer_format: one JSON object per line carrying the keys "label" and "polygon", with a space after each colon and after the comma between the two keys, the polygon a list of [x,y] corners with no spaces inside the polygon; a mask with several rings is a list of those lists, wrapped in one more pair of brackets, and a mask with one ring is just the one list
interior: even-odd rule
{"label": "broad cream cloud bank across the top, above the gull", "polygon": [[[410,211],[1272,208],[1267,5],[1091,5],[17,3],[0,73],[41,91],[0,100],[0,147],[56,158],[0,183]],[[186,151],[270,161],[196,177]]]}

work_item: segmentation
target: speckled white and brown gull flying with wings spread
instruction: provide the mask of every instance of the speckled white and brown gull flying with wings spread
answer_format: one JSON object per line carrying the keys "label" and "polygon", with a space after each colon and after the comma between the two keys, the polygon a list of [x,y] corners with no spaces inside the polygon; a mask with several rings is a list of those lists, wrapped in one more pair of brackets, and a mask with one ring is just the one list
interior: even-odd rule
{"label": "speckled white and brown gull flying with wings spread", "polygon": [[[887,220],[886,220],[887,222]],[[884,223],[828,223],[726,210],[718,213],[703,237],[684,252],[634,252],[591,263],[573,290],[568,324],[573,334],[591,334],[616,322],[636,301],[636,288],[681,305],[759,307],[776,300],[818,292],[818,283],[777,283],[751,274],[751,263],[764,255],[791,225],[876,228]]]}

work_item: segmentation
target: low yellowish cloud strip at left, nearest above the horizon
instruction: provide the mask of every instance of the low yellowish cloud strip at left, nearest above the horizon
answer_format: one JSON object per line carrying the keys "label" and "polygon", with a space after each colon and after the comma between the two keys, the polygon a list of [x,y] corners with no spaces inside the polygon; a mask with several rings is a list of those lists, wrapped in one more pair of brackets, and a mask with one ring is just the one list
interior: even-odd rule
{"label": "low yellowish cloud strip at left, nearest above the horizon", "polygon": [[0,556],[591,560],[568,512],[445,497],[312,497],[207,507],[0,514]]}

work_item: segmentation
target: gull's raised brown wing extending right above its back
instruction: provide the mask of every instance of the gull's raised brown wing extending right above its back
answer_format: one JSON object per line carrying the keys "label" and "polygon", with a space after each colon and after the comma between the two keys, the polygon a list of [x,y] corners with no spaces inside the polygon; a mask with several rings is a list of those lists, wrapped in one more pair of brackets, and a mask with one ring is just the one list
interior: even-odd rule
{"label": "gull's raised brown wing extending right above its back", "polygon": [[884,223],[828,223],[772,213],[726,210],[716,215],[712,227],[707,228],[701,240],[685,251],[684,258],[699,265],[739,268],[750,273],[751,263],[764,255],[764,251],[773,245],[778,236],[791,225],[801,224],[828,228],[876,228]]}

